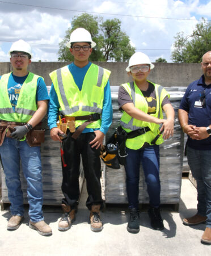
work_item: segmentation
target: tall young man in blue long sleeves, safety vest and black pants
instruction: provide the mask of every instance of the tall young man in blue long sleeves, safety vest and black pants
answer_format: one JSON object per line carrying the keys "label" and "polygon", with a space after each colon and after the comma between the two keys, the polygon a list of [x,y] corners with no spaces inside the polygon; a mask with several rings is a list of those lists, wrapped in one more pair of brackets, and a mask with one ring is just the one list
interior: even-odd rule
{"label": "tall young man in blue long sleeves, safety vest and black pants", "polygon": [[[70,228],[75,219],[79,199],[79,166],[82,157],[83,170],[87,183],[87,208],[90,210],[92,231],[103,229],[99,216],[103,200],[100,186],[100,146],[112,123],[111,90],[109,74],[88,61],[96,44],[90,33],[77,28],[70,35],[67,47],[74,56],[74,62],[50,73],[52,87],[48,125],[53,140],[61,141],[57,127],[58,112],[65,123],[73,121],[76,131],[67,129],[67,137],[62,140],[65,163],[62,164],[62,209],[64,215],[58,223],[58,230]],[[63,120],[64,120],[63,119]]]}

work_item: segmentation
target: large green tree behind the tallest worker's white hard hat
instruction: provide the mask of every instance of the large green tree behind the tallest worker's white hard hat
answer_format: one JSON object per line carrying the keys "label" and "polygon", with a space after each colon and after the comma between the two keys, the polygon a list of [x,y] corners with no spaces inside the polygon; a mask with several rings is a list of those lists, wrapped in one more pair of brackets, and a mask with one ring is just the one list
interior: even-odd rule
{"label": "large green tree behind the tallest worker's white hard hat", "polygon": [[91,61],[128,61],[135,52],[135,48],[130,45],[129,37],[121,31],[119,19],[107,19],[104,22],[100,16],[84,13],[74,16],[71,28],[66,31],[64,39],[59,44],[58,61],[73,61],[66,43],[71,32],[78,27],[88,30],[96,43],[90,55]]}

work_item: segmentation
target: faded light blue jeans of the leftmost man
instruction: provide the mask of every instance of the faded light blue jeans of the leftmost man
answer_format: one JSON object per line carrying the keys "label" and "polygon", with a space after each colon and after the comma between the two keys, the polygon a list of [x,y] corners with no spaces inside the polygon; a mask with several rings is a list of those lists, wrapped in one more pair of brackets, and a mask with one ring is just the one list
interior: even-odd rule
{"label": "faded light blue jeans of the leftmost man", "polygon": [[3,170],[11,203],[11,214],[23,216],[23,192],[20,182],[20,159],[27,181],[29,217],[33,222],[43,220],[43,184],[41,175],[40,146],[30,147],[25,141],[5,137],[0,146]]}

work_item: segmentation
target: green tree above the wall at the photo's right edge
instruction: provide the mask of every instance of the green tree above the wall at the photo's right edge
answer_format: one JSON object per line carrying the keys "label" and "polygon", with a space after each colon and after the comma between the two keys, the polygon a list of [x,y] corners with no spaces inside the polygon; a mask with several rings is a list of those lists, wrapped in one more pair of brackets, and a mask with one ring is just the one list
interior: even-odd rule
{"label": "green tree above the wall at the photo's right edge", "polygon": [[171,54],[174,62],[199,63],[204,53],[210,51],[211,22],[202,19],[191,35],[185,36],[184,32],[179,32],[174,37],[175,49]]}

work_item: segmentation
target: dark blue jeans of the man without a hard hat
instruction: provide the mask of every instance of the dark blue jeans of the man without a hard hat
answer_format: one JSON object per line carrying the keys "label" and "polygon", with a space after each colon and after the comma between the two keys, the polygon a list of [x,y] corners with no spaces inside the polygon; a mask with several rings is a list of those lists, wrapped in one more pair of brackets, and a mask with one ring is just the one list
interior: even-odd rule
{"label": "dark blue jeans of the man without a hard hat", "polygon": [[211,228],[211,150],[196,150],[187,146],[188,165],[197,182],[197,212],[208,217]]}

